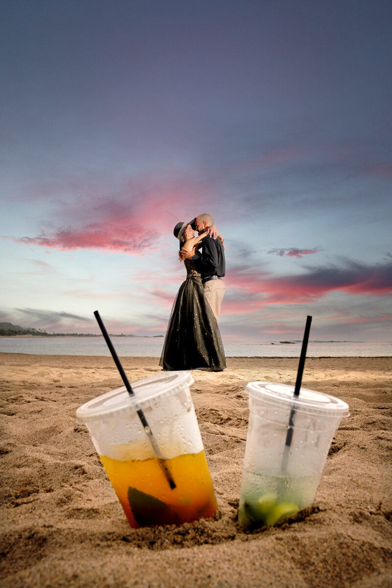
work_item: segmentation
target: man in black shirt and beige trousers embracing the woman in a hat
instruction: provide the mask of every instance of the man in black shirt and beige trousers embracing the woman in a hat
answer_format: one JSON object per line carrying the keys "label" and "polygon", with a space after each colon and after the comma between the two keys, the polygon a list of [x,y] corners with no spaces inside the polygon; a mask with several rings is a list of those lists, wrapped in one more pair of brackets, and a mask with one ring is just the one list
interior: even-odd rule
{"label": "man in black shirt and beige trousers embracing the woman in a hat", "polygon": [[[207,212],[191,220],[192,229],[197,230],[199,235],[204,233],[210,226],[214,225],[214,219]],[[204,288],[204,295],[211,306],[217,322],[221,313],[221,303],[225,293],[225,284],[222,280],[226,273],[225,251],[221,239],[214,239],[207,235],[202,240],[202,251],[194,256],[181,249],[183,258],[192,259],[197,270],[201,273],[201,281]]]}

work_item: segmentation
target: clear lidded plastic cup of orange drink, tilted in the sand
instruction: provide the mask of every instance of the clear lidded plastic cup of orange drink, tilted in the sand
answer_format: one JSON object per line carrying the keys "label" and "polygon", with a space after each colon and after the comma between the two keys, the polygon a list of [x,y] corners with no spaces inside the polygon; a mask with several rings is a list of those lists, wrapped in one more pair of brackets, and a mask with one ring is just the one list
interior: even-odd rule
{"label": "clear lidded plastic cup of orange drink, tilted in the sand", "polygon": [[[188,372],[170,372],[96,397],[76,411],[131,527],[189,523],[217,510]],[[137,410],[143,410],[158,458]],[[175,484],[168,483],[167,470]]]}

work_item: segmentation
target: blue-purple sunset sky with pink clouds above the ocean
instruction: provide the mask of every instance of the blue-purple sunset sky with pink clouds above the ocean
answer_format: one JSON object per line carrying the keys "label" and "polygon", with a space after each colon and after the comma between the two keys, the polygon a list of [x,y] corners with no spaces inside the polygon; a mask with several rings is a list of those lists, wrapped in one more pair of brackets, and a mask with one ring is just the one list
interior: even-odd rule
{"label": "blue-purple sunset sky with pink clouds above the ocean", "polygon": [[392,340],[390,0],[1,4],[0,321],[164,335],[208,212],[224,342]]}

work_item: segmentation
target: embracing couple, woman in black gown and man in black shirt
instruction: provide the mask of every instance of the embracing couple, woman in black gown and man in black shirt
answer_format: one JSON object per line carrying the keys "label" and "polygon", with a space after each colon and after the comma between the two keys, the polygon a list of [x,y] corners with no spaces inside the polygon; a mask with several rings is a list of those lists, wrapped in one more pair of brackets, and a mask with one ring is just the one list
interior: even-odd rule
{"label": "embracing couple, woman in black gown and man in black shirt", "polygon": [[173,303],[159,365],[170,371],[221,372],[226,367],[218,328],[225,293],[224,239],[208,213],[177,223],[173,234],[187,277]]}

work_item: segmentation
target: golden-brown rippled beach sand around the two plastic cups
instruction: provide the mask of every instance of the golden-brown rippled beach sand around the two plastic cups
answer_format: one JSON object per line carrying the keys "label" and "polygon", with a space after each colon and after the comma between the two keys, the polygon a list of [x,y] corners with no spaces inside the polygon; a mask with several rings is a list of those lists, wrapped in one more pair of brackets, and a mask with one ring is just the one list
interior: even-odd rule
{"label": "golden-brown rippled beach sand around the two plastic cups", "polygon": [[[157,358],[122,358],[131,381]],[[192,372],[215,519],[131,529],[77,407],[121,386],[107,357],[0,354],[0,586],[392,586],[392,358],[308,358],[303,386],[345,400],[312,507],[241,530],[247,382],[295,382],[298,359]]]}

